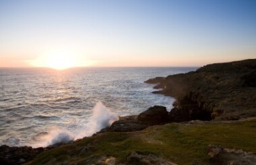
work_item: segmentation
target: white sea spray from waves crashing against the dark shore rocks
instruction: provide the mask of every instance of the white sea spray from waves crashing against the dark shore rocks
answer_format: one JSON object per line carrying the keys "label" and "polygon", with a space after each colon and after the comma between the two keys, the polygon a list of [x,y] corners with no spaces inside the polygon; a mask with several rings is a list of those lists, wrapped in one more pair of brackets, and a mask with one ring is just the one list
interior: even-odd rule
{"label": "white sea spray from waves crashing against the dark shore rocks", "polygon": [[107,109],[101,102],[96,103],[92,117],[88,122],[80,122],[77,129],[71,131],[64,128],[54,128],[46,135],[38,137],[38,142],[32,145],[36,147],[46,147],[53,144],[67,143],[71,140],[77,140],[82,137],[90,136],[104,127],[110,126],[119,117]]}

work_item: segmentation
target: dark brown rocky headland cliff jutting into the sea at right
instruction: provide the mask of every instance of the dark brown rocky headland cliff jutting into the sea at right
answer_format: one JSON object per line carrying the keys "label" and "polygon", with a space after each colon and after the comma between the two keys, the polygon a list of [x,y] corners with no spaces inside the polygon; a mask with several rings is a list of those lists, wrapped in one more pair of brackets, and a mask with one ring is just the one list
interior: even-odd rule
{"label": "dark brown rocky headland cliff jutting into the sea at right", "polygon": [[234,120],[256,116],[256,59],[208,64],[195,72],[153,78],[154,93],[176,99],[171,121]]}

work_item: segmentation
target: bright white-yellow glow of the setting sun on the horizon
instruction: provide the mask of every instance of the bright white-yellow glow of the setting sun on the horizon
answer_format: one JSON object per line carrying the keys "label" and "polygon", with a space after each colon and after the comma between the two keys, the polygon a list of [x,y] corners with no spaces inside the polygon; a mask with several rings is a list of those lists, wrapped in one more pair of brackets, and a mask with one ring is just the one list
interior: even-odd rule
{"label": "bright white-yellow glow of the setting sun on the horizon", "polygon": [[90,60],[86,60],[83,56],[67,51],[53,51],[39,56],[36,60],[30,60],[29,63],[36,67],[54,68],[56,70],[64,70],[72,67],[89,66],[92,64]]}

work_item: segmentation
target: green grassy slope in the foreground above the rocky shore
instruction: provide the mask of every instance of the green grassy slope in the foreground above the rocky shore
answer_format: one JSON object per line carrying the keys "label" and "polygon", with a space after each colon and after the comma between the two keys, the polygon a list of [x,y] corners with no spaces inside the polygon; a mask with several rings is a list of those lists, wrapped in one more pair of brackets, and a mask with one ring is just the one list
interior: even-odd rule
{"label": "green grassy slope in the foreground above the rocky shore", "polygon": [[102,133],[40,154],[28,164],[79,163],[97,156],[125,162],[133,151],[153,153],[177,164],[208,164],[207,146],[243,149],[256,153],[256,120],[236,123],[171,123],[128,133]]}

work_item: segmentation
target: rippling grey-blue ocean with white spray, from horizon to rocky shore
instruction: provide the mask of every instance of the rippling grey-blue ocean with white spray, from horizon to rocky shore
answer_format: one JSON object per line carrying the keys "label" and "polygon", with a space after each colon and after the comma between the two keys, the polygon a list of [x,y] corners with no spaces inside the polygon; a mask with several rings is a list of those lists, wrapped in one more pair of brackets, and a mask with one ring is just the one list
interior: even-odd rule
{"label": "rippling grey-blue ocean with white spray, from horizon to rocky shore", "polygon": [[0,68],[0,145],[49,146],[174,99],[143,83],[197,68]]}

